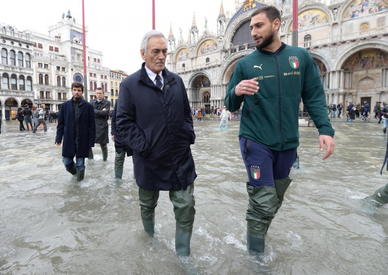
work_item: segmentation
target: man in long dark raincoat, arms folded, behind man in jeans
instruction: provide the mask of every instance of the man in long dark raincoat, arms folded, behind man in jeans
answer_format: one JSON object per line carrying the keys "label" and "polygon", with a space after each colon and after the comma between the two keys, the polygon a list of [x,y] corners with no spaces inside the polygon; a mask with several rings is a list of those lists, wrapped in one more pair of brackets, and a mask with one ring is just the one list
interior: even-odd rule
{"label": "man in long dark raincoat, arms folded, behind man in jeans", "polygon": [[[108,115],[111,109],[111,103],[104,99],[104,90],[101,88],[96,89],[97,99],[90,101],[90,104],[94,107],[94,114],[96,117],[96,141],[99,144],[102,151],[102,159],[104,161],[108,158],[108,145],[109,143],[109,125]],[[93,159],[92,147],[89,148],[89,159]]]}

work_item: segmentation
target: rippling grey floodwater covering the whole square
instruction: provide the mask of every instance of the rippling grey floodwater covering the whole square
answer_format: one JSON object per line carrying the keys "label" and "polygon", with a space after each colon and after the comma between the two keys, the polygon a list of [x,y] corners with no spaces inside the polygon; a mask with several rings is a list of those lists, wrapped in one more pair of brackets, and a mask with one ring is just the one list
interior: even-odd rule
{"label": "rippling grey floodwater covering the whole square", "polygon": [[387,183],[380,176],[387,136],[382,125],[333,122],[336,150],[322,161],[315,127],[301,127],[300,169],[266,238],[265,258],[246,251],[246,171],[239,122],[194,122],[198,178],[191,256],[175,254],[175,220],[168,192],[156,208],[156,238],[140,218],[132,161],[113,179],[99,146],[86,160],[85,180],[65,171],[62,147],[48,132],[19,131],[3,122],[0,135],[0,274],[387,274],[388,207],[362,202]]}

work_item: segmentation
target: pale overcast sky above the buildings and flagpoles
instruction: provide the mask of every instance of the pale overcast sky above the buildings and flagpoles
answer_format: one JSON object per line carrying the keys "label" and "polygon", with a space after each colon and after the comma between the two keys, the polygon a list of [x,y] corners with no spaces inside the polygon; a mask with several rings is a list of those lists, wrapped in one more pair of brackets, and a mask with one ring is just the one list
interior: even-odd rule
{"label": "pale overcast sky above the buildings and flagpoles", "polygon": [[[224,11],[234,13],[235,0],[223,0]],[[152,29],[152,0],[84,0],[86,45],[103,52],[103,66],[128,74],[140,68],[140,41]],[[221,0],[155,0],[156,30],[167,37],[170,23],[176,41],[179,27],[185,40],[195,19],[199,36],[208,29],[217,33]],[[48,35],[49,26],[71,15],[82,24],[82,0],[1,0],[0,22],[18,31],[32,29]],[[231,13],[231,15],[233,14]]]}

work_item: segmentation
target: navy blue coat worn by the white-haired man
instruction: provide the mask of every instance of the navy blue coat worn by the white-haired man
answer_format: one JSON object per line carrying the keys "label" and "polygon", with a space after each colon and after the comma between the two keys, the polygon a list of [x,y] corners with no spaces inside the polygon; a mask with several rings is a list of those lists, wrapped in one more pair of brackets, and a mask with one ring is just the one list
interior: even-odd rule
{"label": "navy blue coat worn by the white-haired man", "polygon": [[136,183],[146,190],[186,190],[196,178],[193,119],[182,79],[166,68],[161,91],[145,63],[120,85],[116,123],[134,153]]}

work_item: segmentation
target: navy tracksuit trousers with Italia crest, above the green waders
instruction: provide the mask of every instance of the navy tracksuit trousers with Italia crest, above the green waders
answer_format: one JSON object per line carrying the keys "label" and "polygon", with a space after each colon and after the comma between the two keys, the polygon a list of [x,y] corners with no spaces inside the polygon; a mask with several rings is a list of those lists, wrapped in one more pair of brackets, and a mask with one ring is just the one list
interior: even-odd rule
{"label": "navy tracksuit trousers with Italia crest, above the green waders", "polygon": [[296,159],[296,148],[285,151],[270,150],[244,137],[240,137],[240,150],[249,185],[253,187],[275,186],[274,180],[289,176]]}

